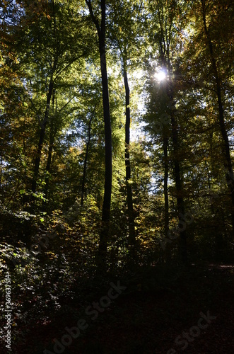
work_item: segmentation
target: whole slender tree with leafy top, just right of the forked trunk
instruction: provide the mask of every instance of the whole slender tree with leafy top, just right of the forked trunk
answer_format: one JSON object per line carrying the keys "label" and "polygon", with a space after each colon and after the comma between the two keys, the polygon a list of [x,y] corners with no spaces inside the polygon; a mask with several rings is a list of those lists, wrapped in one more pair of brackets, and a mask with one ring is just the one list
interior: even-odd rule
{"label": "whole slender tree with leafy top, just right of the forked trunk", "polygon": [[[125,178],[127,189],[127,210],[129,219],[129,247],[131,261],[136,259],[136,232],[134,221],[133,193],[131,188],[131,163],[130,163],[130,89],[128,72],[131,67],[136,67],[136,58],[139,56],[139,47],[144,52],[139,40],[141,23],[141,4],[139,1],[126,3],[120,1],[113,3],[110,11],[110,45],[117,52],[117,58],[121,61],[122,76],[125,91]],[[119,25],[121,23],[121,26]],[[124,30],[122,29],[124,28]],[[137,48],[137,50],[136,50]],[[118,54],[119,52],[119,54]],[[139,58],[138,58],[139,59]],[[130,63],[131,64],[128,64]],[[132,64],[134,63],[134,64]]]}

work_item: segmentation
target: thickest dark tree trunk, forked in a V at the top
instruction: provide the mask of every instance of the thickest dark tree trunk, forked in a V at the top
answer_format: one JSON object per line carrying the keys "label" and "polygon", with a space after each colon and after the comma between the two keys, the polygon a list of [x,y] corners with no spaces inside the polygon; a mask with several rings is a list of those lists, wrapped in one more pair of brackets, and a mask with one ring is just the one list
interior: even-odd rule
{"label": "thickest dark tree trunk, forked in a V at the top", "polygon": [[100,67],[102,72],[102,89],[103,89],[103,115],[105,125],[105,189],[103,200],[102,227],[100,230],[100,242],[98,249],[98,270],[105,271],[107,258],[107,243],[110,229],[110,203],[112,193],[112,132],[110,121],[110,102],[108,91],[107,64],[105,55],[105,0],[100,0],[101,7],[101,23],[94,16],[93,8],[90,0],[86,0],[90,16],[98,31],[98,44],[100,55]]}

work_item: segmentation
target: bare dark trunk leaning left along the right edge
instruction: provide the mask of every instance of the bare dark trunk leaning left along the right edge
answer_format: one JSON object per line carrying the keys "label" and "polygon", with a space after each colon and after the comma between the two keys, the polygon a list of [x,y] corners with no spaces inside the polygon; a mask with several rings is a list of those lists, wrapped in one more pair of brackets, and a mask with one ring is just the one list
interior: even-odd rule
{"label": "bare dark trunk leaning left along the right edge", "polygon": [[209,30],[206,25],[206,0],[201,0],[201,6],[202,6],[202,16],[203,16],[203,23],[204,23],[204,32],[206,35],[207,44],[209,46],[213,76],[215,78],[215,91],[216,91],[217,101],[218,101],[218,122],[221,130],[221,135],[223,138],[223,155],[225,157],[224,168],[226,171],[226,181],[228,184],[228,189],[230,191],[230,200],[232,203],[231,218],[232,218],[232,227],[233,227],[233,236],[234,236],[234,183],[233,183],[234,178],[233,178],[233,166],[230,157],[230,145],[228,141],[228,134],[226,131],[225,120],[224,120],[224,108],[223,108],[223,100],[222,100],[222,93],[221,93],[221,79],[218,74],[216,57],[213,52],[213,43],[211,40],[211,36],[209,34]]}

